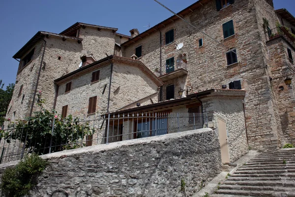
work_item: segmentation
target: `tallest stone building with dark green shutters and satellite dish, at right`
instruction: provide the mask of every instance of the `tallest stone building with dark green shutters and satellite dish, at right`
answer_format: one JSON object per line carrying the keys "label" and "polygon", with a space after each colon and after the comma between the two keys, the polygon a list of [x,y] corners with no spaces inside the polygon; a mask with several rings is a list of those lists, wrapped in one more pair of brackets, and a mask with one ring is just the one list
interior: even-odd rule
{"label": "tallest stone building with dark green shutters and satellite dish, at right", "polygon": [[194,27],[172,16],[121,44],[123,56],[138,54],[165,83],[159,100],[179,90],[244,89],[249,146],[294,143],[294,38],[268,35],[277,22],[294,30],[294,17],[272,0],[199,0],[177,15]]}

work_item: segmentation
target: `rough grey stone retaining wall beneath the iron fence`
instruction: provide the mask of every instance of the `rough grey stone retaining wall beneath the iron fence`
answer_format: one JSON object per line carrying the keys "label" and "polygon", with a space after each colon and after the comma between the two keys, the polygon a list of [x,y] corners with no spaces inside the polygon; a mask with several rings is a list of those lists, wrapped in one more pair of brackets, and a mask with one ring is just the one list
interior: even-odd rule
{"label": "rough grey stone retaining wall beneath the iron fence", "polygon": [[[42,156],[50,163],[33,197],[192,196],[221,171],[211,129],[102,144]],[[6,167],[0,165],[0,171]]]}

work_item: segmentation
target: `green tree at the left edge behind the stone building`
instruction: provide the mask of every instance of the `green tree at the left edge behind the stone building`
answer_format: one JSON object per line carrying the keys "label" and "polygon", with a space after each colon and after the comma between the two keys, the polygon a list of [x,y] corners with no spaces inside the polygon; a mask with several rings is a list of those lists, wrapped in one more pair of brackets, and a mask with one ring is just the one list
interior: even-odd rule
{"label": "green tree at the left edge behind the stone building", "polygon": [[12,98],[14,84],[11,83],[3,90],[4,83],[0,80],[0,127],[3,125],[9,102]]}

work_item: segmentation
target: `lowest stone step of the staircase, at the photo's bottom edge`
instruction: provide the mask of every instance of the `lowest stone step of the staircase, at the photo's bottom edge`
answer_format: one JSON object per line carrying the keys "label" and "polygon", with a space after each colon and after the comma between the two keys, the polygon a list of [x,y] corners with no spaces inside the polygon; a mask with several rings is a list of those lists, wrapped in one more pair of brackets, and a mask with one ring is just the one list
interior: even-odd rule
{"label": "lowest stone step of the staircase, at the photo's bottom edge", "polygon": [[217,190],[216,194],[252,197],[295,197],[294,192],[273,192],[273,191],[243,191],[243,190]]}

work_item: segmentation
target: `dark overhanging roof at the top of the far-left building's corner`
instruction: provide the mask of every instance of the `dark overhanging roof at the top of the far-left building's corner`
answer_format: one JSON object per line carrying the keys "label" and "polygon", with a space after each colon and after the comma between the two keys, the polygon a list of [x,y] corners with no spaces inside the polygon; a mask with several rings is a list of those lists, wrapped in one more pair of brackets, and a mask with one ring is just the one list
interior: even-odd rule
{"label": "dark overhanging roof at the top of the far-left building's corner", "polygon": [[83,38],[60,35],[58,33],[39,31],[12,58],[21,59],[40,39],[42,39],[46,35],[57,36],[61,38],[73,39],[73,40],[79,40],[79,41],[83,40]]}

